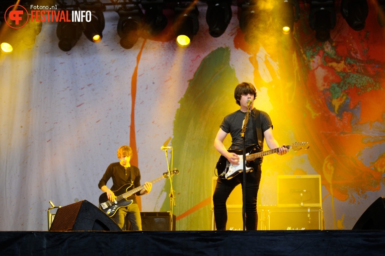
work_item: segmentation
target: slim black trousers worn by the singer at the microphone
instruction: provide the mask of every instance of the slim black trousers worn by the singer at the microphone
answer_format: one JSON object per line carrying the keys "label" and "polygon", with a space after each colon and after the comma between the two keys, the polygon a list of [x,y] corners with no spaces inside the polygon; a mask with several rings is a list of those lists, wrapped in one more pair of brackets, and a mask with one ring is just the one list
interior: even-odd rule
{"label": "slim black trousers worn by the singer at the microphone", "polygon": [[[257,230],[258,213],[257,213],[257,195],[259,183],[261,182],[261,164],[251,163],[254,168],[253,172],[246,174],[246,229]],[[214,218],[216,230],[226,230],[227,208],[226,201],[228,196],[237,187],[242,185],[243,191],[243,173],[236,175],[230,180],[218,178],[216,181],[215,191],[213,195]],[[240,198],[242,201],[242,198]]]}

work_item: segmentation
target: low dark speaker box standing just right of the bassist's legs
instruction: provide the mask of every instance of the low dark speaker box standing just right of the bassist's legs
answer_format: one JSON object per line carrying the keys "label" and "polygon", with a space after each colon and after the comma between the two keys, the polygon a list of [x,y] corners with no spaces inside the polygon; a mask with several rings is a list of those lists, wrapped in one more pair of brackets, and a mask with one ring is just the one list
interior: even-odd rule
{"label": "low dark speaker box standing just right of the bassist's legs", "polygon": [[[169,212],[141,212],[142,230],[144,231],[170,231],[175,230],[176,216]],[[172,227],[171,227],[172,225]]]}

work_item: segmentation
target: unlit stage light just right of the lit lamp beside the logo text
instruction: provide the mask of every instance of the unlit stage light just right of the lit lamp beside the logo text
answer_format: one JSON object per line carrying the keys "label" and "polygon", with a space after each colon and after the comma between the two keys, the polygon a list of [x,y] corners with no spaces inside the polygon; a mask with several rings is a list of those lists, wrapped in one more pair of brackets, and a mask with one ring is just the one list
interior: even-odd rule
{"label": "unlit stage light just right of the lit lamp beside the logo text", "polygon": [[118,35],[120,45],[131,49],[139,39],[143,12],[138,6],[119,8]]}

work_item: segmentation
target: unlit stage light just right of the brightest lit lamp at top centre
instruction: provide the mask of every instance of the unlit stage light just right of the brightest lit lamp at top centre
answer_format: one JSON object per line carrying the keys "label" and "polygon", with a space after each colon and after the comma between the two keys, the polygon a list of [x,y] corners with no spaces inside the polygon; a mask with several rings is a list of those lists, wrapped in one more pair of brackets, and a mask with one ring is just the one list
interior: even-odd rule
{"label": "unlit stage light just right of the brightest lit lamp at top centre", "polygon": [[207,0],[206,22],[208,33],[220,37],[232,19],[230,0]]}

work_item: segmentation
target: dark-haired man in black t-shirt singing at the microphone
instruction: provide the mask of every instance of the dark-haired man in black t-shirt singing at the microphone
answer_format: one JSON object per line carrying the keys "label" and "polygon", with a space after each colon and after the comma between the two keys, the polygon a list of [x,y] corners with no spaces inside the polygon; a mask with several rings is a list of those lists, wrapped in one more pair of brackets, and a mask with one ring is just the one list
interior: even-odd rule
{"label": "dark-haired man in black t-shirt singing at the microphone", "polygon": [[[254,109],[253,104],[256,96],[257,93],[253,84],[249,82],[242,82],[238,84],[235,89],[234,97],[237,101],[237,104],[240,106],[240,110],[227,115],[221,123],[218,133],[216,134],[214,147],[228,160],[229,163],[233,165],[240,164],[240,157],[234,152],[227,151],[223,145],[223,140],[227,134],[230,134],[232,137],[232,145],[230,146],[230,149],[243,149],[243,138],[241,137],[241,131],[245,115],[248,110],[248,102],[251,115],[246,126],[246,147],[249,147],[253,144],[263,146],[263,140],[266,139],[267,146],[270,149],[278,148],[277,153],[279,155],[283,155],[288,152],[288,149],[285,147],[285,145],[279,147],[278,142],[274,139],[273,125],[269,115],[266,112]],[[259,138],[257,135],[259,133],[258,129],[260,129],[262,138]],[[247,230],[257,230],[257,194],[259,183],[261,181],[261,163],[262,158],[257,158],[254,161],[249,162],[248,166],[252,168],[252,171],[246,173],[245,209]],[[243,186],[242,181],[243,174],[236,175],[232,179],[218,177],[213,194],[214,218],[217,230],[226,229],[226,200],[237,185],[241,183]]]}

